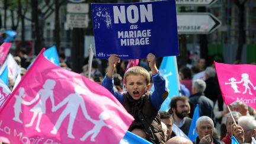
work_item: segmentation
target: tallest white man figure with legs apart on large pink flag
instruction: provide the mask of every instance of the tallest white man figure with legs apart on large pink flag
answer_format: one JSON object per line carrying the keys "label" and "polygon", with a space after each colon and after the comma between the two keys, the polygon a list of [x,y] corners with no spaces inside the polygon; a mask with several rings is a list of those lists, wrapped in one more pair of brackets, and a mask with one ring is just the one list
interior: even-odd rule
{"label": "tallest white man figure with legs apart on large pink flag", "polygon": [[69,94],[64,100],[62,100],[59,104],[52,108],[52,111],[58,110],[63,105],[66,105],[66,108],[62,111],[53,130],[51,133],[53,135],[57,134],[57,130],[59,130],[60,125],[62,124],[63,120],[68,117],[69,115],[69,124],[68,124],[68,137],[71,139],[75,139],[75,136],[72,135],[73,123],[75,122],[76,114],[78,113],[78,108],[81,106],[82,112],[84,113],[85,118],[89,119],[89,115],[87,113],[87,109],[85,107],[84,99],[82,98],[81,94],[85,94],[85,89],[76,85],[75,86],[75,93]]}

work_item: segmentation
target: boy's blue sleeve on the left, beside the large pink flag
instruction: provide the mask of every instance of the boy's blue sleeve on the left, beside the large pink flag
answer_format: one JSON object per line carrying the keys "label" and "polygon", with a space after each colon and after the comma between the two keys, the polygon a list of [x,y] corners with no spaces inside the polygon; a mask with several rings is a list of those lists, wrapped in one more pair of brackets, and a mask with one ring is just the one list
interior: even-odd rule
{"label": "boy's blue sleeve on the left, beside the large pink flag", "polygon": [[103,82],[101,83],[103,87],[107,88],[108,91],[110,91],[114,97],[119,100],[120,103],[123,103],[123,95],[120,94],[119,92],[114,91],[114,79],[113,78],[108,78],[107,75],[105,75]]}

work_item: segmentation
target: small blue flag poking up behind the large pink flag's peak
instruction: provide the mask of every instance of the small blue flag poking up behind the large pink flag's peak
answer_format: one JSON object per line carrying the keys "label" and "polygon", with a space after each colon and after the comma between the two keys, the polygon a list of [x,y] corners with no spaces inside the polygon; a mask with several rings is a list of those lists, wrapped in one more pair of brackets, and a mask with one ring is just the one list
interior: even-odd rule
{"label": "small blue flag poking up behind the large pink flag's peak", "polygon": [[60,66],[56,46],[53,45],[52,47],[49,47],[49,49],[44,51],[44,56],[46,56],[47,59],[50,60],[52,63],[55,63],[55,65]]}

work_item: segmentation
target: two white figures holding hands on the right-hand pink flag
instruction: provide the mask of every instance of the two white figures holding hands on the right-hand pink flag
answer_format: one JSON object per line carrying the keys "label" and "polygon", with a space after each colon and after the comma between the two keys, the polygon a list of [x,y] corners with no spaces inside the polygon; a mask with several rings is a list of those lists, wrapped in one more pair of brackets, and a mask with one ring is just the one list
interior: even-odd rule
{"label": "two white figures holding hands on the right-hand pink flag", "polygon": [[252,82],[249,80],[249,75],[248,73],[242,73],[241,75],[242,79],[239,82],[236,82],[235,78],[230,78],[229,81],[230,82],[225,82],[225,85],[231,84],[231,88],[233,88],[234,93],[240,93],[240,91],[238,91],[238,86],[236,84],[240,84],[242,82],[244,82],[244,87],[245,87],[245,91],[242,92],[242,94],[247,93],[247,89],[249,89],[249,94],[252,95],[251,93],[251,88],[249,87],[249,84],[252,86],[252,88],[255,90],[256,87],[254,87],[254,85],[252,84]]}

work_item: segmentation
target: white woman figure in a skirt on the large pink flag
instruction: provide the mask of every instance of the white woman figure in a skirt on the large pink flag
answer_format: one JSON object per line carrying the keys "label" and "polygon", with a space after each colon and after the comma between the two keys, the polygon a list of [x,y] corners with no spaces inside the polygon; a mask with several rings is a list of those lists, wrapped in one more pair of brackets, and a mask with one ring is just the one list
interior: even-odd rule
{"label": "white woman figure in a skirt on the large pink flag", "polygon": [[40,124],[41,116],[46,113],[46,101],[48,100],[48,98],[50,98],[50,100],[52,101],[52,107],[54,107],[53,88],[55,87],[55,85],[56,85],[55,80],[47,79],[44,82],[43,88],[40,89],[39,92],[37,92],[36,97],[32,101],[37,101],[38,99],[39,101],[37,102],[36,105],[34,105],[33,108],[31,108],[30,111],[33,112],[34,114],[30,123],[25,125],[26,127],[32,126],[34,123],[34,120],[38,116],[36,130],[37,132],[41,132],[41,130],[39,129],[39,124]]}

